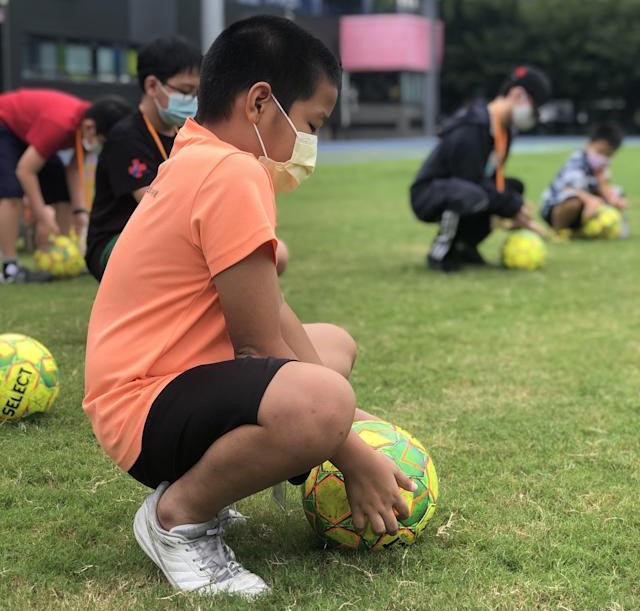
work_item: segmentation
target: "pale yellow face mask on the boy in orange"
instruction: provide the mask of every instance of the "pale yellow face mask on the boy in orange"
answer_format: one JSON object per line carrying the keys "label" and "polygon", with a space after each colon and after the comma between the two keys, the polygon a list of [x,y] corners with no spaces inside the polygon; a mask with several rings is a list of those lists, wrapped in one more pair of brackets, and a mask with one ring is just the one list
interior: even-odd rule
{"label": "pale yellow face mask on the boy in orange", "polygon": [[267,150],[264,147],[264,142],[258,131],[258,126],[254,123],[253,128],[256,130],[260,147],[264,153],[264,156],[258,157],[258,161],[267,168],[273,181],[275,192],[287,193],[300,186],[301,182],[313,174],[318,156],[318,137],[314,134],[299,132],[293,124],[293,121],[289,118],[289,115],[287,115],[282,106],[280,106],[280,102],[278,102],[276,96],[272,93],[271,97],[294,131],[296,142],[293,145],[293,152],[288,161],[274,161],[267,155]]}

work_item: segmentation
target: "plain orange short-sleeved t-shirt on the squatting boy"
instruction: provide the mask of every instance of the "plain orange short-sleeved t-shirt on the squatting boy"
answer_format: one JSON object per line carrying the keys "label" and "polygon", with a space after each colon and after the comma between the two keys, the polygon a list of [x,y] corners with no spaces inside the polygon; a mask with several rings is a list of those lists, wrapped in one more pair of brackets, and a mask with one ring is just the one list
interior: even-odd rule
{"label": "plain orange short-sleeved t-shirt on the squatting boy", "polygon": [[154,399],[234,358],[213,277],[271,242],[275,196],[256,158],[189,119],[113,249],[87,337],[83,408],[125,471]]}

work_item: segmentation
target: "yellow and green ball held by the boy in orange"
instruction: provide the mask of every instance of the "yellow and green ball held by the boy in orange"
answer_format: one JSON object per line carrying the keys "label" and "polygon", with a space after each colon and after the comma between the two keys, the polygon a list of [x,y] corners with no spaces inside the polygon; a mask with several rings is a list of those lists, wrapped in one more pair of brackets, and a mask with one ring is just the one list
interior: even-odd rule
{"label": "yellow and green ball held by the boy in orange", "polygon": [[369,524],[357,533],[351,521],[342,473],[330,462],[315,467],[304,484],[302,505],[309,524],[330,548],[377,551],[394,543],[414,543],[436,510],[438,476],[425,447],[399,426],[382,420],[360,420],[353,430],[372,448],[382,452],[416,484],[414,492],[400,489],[410,515],[398,521],[395,535],[376,535]]}

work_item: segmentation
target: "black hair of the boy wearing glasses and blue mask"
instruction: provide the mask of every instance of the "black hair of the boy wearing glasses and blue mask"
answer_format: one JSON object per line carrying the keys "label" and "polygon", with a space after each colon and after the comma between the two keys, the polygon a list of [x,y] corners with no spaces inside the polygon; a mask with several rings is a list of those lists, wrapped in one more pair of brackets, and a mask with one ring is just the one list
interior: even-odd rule
{"label": "black hair of the boy wearing glasses and blue mask", "polygon": [[144,79],[153,75],[161,83],[181,72],[199,72],[200,49],[181,36],[161,36],[138,51],[138,84],[144,91]]}

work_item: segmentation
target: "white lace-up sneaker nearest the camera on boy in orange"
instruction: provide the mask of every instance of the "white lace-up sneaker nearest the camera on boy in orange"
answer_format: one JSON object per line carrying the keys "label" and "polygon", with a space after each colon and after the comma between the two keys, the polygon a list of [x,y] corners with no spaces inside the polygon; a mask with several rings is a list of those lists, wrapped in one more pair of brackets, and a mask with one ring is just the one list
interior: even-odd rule
{"label": "white lace-up sneaker nearest the camera on boy in orange", "polygon": [[133,534],[143,551],[165,574],[171,585],[201,594],[229,592],[256,596],[269,591],[257,575],[236,562],[231,548],[222,539],[218,518],[203,524],[185,524],[170,531],[158,523],[158,500],[169,487],[163,482],[136,512]]}

